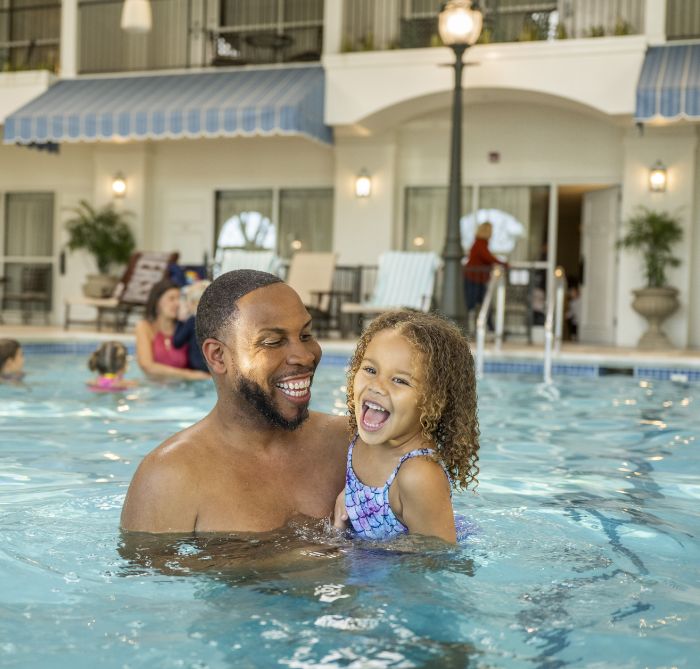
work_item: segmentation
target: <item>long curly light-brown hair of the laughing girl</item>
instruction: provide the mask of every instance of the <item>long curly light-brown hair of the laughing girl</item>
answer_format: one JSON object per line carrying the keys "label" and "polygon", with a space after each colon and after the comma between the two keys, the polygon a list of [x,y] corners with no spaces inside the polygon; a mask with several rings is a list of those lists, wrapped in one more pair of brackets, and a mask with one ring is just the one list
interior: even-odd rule
{"label": "long curly light-brown hair of the laughing girl", "polygon": [[350,430],[357,432],[355,374],[367,346],[383,330],[396,330],[415,348],[425,381],[418,388],[422,435],[432,441],[453,485],[478,485],[479,420],[476,408],[476,374],[469,343],[459,328],[437,314],[389,311],[365,328],[348,369],[347,404]]}

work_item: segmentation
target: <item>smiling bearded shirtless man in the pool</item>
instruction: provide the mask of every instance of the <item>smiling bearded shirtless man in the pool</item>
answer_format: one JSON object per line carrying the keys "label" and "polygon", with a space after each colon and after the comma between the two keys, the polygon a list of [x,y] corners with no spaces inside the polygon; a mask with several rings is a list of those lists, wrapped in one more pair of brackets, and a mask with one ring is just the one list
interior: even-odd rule
{"label": "smiling bearded shirtless man in the pool", "polygon": [[217,402],[137,469],[125,530],[265,532],[330,516],[343,487],[347,419],[309,412],[321,348],[299,296],[265,272],[221,275],[197,310]]}

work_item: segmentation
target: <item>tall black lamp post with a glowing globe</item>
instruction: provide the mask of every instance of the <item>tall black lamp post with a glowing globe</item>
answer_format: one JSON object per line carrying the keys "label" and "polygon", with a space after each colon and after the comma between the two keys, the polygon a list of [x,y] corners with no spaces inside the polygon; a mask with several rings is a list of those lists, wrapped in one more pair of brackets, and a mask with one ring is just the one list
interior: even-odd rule
{"label": "tall black lamp post with a glowing globe", "polygon": [[443,276],[440,309],[461,326],[466,326],[462,288],[462,56],[479,39],[483,16],[471,0],[450,0],[443,6],[438,23],[440,38],[455,52],[455,86],[452,96],[452,140],[450,187],[447,206],[447,235],[442,252]]}

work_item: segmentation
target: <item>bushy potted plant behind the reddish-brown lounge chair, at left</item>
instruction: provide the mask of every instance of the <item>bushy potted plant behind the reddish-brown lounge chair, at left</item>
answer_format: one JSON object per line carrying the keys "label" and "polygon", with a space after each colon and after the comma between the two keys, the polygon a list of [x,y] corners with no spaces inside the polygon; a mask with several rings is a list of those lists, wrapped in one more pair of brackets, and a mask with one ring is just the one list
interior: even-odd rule
{"label": "bushy potted plant behind the reddish-brown lounge chair, at left", "polygon": [[99,272],[88,274],[83,292],[88,297],[109,297],[119,282],[119,277],[110,275],[112,265],[127,263],[136,247],[127,223],[132,213],[117,211],[113,203],[95,209],[85,200],[71,211],[75,215],[66,221],[68,248],[92,254]]}

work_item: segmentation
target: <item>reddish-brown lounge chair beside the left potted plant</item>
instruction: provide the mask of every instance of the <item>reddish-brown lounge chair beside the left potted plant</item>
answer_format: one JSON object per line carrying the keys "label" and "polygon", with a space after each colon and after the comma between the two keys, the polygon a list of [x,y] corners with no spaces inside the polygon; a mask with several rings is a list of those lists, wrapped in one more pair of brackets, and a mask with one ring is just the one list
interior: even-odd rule
{"label": "reddish-brown lounge chair beside the left potted plant", "polygon": [[[170,274],[170,265],[177,262],[179,254],[157,251],[141,251],[131,256],[129,264],[111,297],[76,297],[65,301],[64,329],[71,323],[95,325],[100,331],[104,317],[111,315],[114,329],[123,330],[134,310],[146,306],[151,288]],[[73,307],[92,307],[97,315],[92,320],[71,318]]]}

